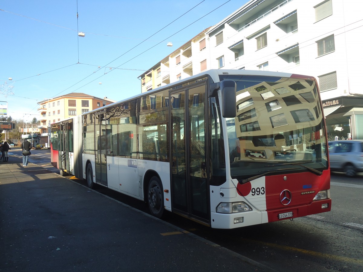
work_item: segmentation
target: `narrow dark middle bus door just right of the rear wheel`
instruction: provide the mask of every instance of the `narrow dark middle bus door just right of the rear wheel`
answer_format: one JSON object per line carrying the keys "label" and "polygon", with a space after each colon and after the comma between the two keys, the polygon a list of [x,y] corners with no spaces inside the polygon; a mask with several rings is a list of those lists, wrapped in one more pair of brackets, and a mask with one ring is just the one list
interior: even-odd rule
{"label": "narrow dark middle bus door just right of the rear wheel", "polygon": [[106,114],[95,115],[95,178],[107,186],[106,168]]}

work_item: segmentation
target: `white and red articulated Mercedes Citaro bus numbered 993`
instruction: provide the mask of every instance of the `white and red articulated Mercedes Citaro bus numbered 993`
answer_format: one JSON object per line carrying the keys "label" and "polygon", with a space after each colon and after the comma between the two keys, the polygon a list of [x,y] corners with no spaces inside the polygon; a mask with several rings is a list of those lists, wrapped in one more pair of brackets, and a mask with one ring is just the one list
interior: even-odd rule
{"label": "white and red articulated Mercedes Citaro bus numbered 993", "polygon": [[60,173],[212,228],[330,211],[317,82],[209,70],[52,124]]}

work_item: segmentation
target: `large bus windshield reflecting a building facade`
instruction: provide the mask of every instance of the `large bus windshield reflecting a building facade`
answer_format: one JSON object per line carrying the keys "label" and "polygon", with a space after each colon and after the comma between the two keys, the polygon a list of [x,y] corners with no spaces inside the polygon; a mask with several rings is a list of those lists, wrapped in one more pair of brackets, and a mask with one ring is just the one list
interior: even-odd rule
{"label": "large bus windshield reflecting a building facade", "polygon": [[[237,115],[228,118],[228,147],[212,140],[212,176],[225,167],[243,180],[264,172],[284,174],[328,168],[325,126],[314,80],[253,75],[222,75],[237,84]],[[222,139],[220,110],[212,107],[212,139]],[[224,148],[224,151],[221,150]],[[228,152],[229,164],[225,163]],[[212,178],[213,179],[213,178]]]}

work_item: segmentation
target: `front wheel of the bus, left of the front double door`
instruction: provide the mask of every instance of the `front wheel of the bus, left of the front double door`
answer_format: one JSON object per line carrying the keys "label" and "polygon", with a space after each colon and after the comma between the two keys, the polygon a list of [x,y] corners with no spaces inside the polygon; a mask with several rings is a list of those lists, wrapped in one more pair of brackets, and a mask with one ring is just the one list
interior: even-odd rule
{"label": "front wheel of the bus, left of the front double door", "polygon": [[158,177],[152,177],[147,190],[147,203],[151,215],[161,218],[164,213],[163,186]]}

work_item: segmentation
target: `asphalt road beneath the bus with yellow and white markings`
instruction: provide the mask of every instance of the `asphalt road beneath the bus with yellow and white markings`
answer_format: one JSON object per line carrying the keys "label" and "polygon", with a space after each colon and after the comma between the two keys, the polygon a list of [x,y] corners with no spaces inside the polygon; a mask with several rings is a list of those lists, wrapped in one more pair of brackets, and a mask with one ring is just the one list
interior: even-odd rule
{"label": "asphalt road beneath the bus with yellow and white markings", "polygon": [[[52,167],[48,150],[32,151],[30,160]],[[104,187],[97,190],[148,212],[143,202]],[[293,221],[215,230],[170,213],[164,220],[277,271],[363,271],[362,174],[332,173],[330,193],[330,212]]]}

